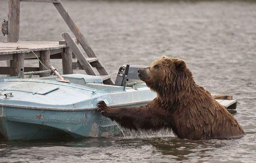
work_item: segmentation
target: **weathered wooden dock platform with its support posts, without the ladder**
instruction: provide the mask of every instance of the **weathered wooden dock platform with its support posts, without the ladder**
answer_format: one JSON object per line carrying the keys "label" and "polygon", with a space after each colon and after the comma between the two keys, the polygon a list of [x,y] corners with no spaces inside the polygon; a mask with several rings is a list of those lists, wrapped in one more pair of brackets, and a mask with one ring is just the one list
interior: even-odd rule
{"label": "weathered wooden dock platform with its support posts, without the ladder", "polygon": [[[35,56],[36,55],[36,56]],[[10,66],[0,67],[0,74],[17,76],[20,69],[24,71],[46,70],[41,64],[38,67],[24,67],[24,60],[37,59],[49,68],[50,59],[61,58],[64,74],[72,73],[72,55],[69,54],[67,45],[60,45],[59,42],[16,42],[0,43],[0,61],[10,61]],[[71,61],[71,63],[69,63]],[[48,74],[40,74],[40,77]]]}

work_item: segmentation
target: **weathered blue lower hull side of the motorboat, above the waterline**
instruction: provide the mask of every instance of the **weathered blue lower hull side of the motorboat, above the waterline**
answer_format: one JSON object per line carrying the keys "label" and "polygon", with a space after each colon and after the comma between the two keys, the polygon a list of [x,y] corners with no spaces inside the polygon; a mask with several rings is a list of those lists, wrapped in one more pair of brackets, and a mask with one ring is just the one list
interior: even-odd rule
{"label": "weathered blue lower hull side of the motorboat, above the waterline", "polygon": [[96,110],[54,111],[2,106],[0,122],[0,132],[8,140],[101,137],[121,134],[115,122],[103,117]]}

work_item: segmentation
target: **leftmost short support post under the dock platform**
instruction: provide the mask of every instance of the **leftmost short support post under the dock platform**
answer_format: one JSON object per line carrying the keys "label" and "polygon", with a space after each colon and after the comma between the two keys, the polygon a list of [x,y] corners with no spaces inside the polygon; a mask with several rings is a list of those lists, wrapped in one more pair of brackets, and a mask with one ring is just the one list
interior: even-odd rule
{"label": "leftmost short support post under the dock platform", "polygon": [[[13,60],[11,60],[11,76],[17,76],[20,69],[24,70],[25,53],[13,54]],[[23,78],[23,75],[20,76]]]}

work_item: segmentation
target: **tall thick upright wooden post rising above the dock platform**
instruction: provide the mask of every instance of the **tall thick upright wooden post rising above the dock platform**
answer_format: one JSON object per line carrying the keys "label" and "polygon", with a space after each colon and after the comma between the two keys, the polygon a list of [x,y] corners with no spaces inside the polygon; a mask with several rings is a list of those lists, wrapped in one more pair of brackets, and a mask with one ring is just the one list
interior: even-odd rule
{"label": "tall thick upright wooden post rising above the dock platform", "polygon": [[8,0],[7,30],[7,42],[17,42],[20,33],[20,0]]}

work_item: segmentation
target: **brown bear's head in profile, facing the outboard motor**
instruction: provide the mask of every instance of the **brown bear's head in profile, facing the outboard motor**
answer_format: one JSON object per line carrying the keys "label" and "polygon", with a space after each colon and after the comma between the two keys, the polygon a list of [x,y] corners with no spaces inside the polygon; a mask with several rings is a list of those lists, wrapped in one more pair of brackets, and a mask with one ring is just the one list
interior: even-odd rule
{"label": "brown bear's head in profile, facing the outboard motor", "polygon": [[154,61],[151,66],[138,70],[138,77],[157,93],[178,93],[194,82],[192,72],[186,67],[184,60],[166,56]]}

